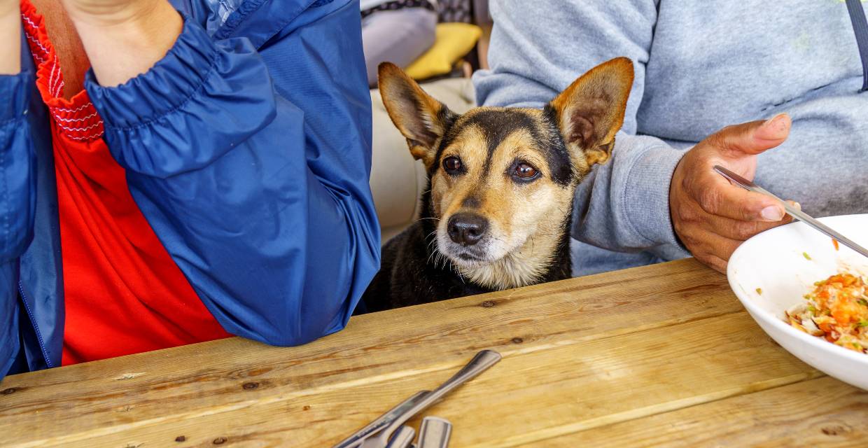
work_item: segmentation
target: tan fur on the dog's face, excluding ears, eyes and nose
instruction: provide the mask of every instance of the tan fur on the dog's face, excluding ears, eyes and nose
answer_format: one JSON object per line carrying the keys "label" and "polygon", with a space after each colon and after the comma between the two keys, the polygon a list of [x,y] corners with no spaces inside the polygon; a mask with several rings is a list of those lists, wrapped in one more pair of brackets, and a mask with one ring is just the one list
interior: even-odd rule
{"label": "tan fur on the dog's face, excluding ears, eyes and nose", "polygon": [[[533,117],[540,131],[546,132],[540,110],[523,109],[523,113]],[[539,148],[534,148],[528,131],[522,128],[503,139],[489,159],[485,135],[476,126],[462,126],[462,121],[468,122],[473,116],[470,111],[456,123],[460,133],[441,156],[441,159],[451,155],[461,158],[468,168],[467,175],[455,179],[441,170],[431,177],[431,201],[440,219],[438,247],[447,244],[444,226],[449,217],[466,211],[464,201],[474,196],[478,204],[473,211],[489,219],[492,238],[497,241],[490,250],[494,260],[483,265],[463,260],[452,262],[465,277],[484,287],[507,289],[531,285],[551,265],[575,185],[556,185],[544,168],[539,168],[541,181],[528,185],[516,185],[509,177],[500,175],[516,158],[535,167],[545,167],[545,161]],[[483,176],[486,161],[490,171]]]}

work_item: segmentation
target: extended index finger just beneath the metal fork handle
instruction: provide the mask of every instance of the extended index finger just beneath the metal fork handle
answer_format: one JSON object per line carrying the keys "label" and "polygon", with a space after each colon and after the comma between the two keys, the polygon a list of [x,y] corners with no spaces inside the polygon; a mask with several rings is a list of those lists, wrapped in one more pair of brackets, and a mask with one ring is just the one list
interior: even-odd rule
{"label": "extended index finger just beneath the metal fork handle", "polygon": [[784,218],[784,206],[774,198],[735,187],[715,174],[703,177],[687,182],[686,188],[706,213],[737,221],[776,222]]}

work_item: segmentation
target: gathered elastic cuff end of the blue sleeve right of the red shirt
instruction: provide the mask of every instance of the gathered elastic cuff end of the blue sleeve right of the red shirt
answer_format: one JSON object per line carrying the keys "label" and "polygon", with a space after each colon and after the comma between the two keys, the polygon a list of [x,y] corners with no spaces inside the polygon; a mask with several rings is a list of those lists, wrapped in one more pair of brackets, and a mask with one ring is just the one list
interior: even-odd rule
{"label": "gathered elastic cuff end of the blue sleeve right of the red shirt", "polygon": [[206,167],[276,114],[271,77],[253,44],[215,43],[187,17],[173,47],[147,72],[106,88],[91,70],[86,87],[115,160],[158,178]]}

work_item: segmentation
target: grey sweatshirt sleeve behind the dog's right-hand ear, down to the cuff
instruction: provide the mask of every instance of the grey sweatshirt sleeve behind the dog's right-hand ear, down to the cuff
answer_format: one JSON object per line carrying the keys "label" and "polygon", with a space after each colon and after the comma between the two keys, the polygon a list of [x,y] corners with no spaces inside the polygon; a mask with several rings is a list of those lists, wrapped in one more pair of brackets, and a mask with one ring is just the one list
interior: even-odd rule
{"label": "grey sweatshirt sleeve behind the dog's right-hand ear, down to the cuff", "polygon": [[[669,182],[683,154],[660,139],[635,135],[654,36],[656,2],[561,0],[528,8],[491,3],[490,70],[474,77],[486,106],[541,108],[577,76],[616,56],[634,61],[635,82],[612,158],[575,194],[572,234],[597,247],[636,252],[678,248],[669,218]],[[536,23],[536,28],[534,24]]]}

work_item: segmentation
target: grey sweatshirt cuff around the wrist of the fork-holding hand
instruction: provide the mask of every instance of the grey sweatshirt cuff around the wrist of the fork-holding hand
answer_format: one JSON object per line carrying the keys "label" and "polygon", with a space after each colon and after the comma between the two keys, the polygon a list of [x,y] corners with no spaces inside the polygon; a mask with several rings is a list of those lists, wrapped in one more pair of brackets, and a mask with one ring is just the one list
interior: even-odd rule
{"label": "grey sweatshirt cuff around the wrist of the fork-holding hand", "polygon": [[[624,188],[625,219],[654,246],[681,247],[669,213],[669,186],[684,151],[667,146],[648,148],[636,158]],[[641,217],[641,221],[635,220]],[[681,247],[683,248],[683,247]]]}

